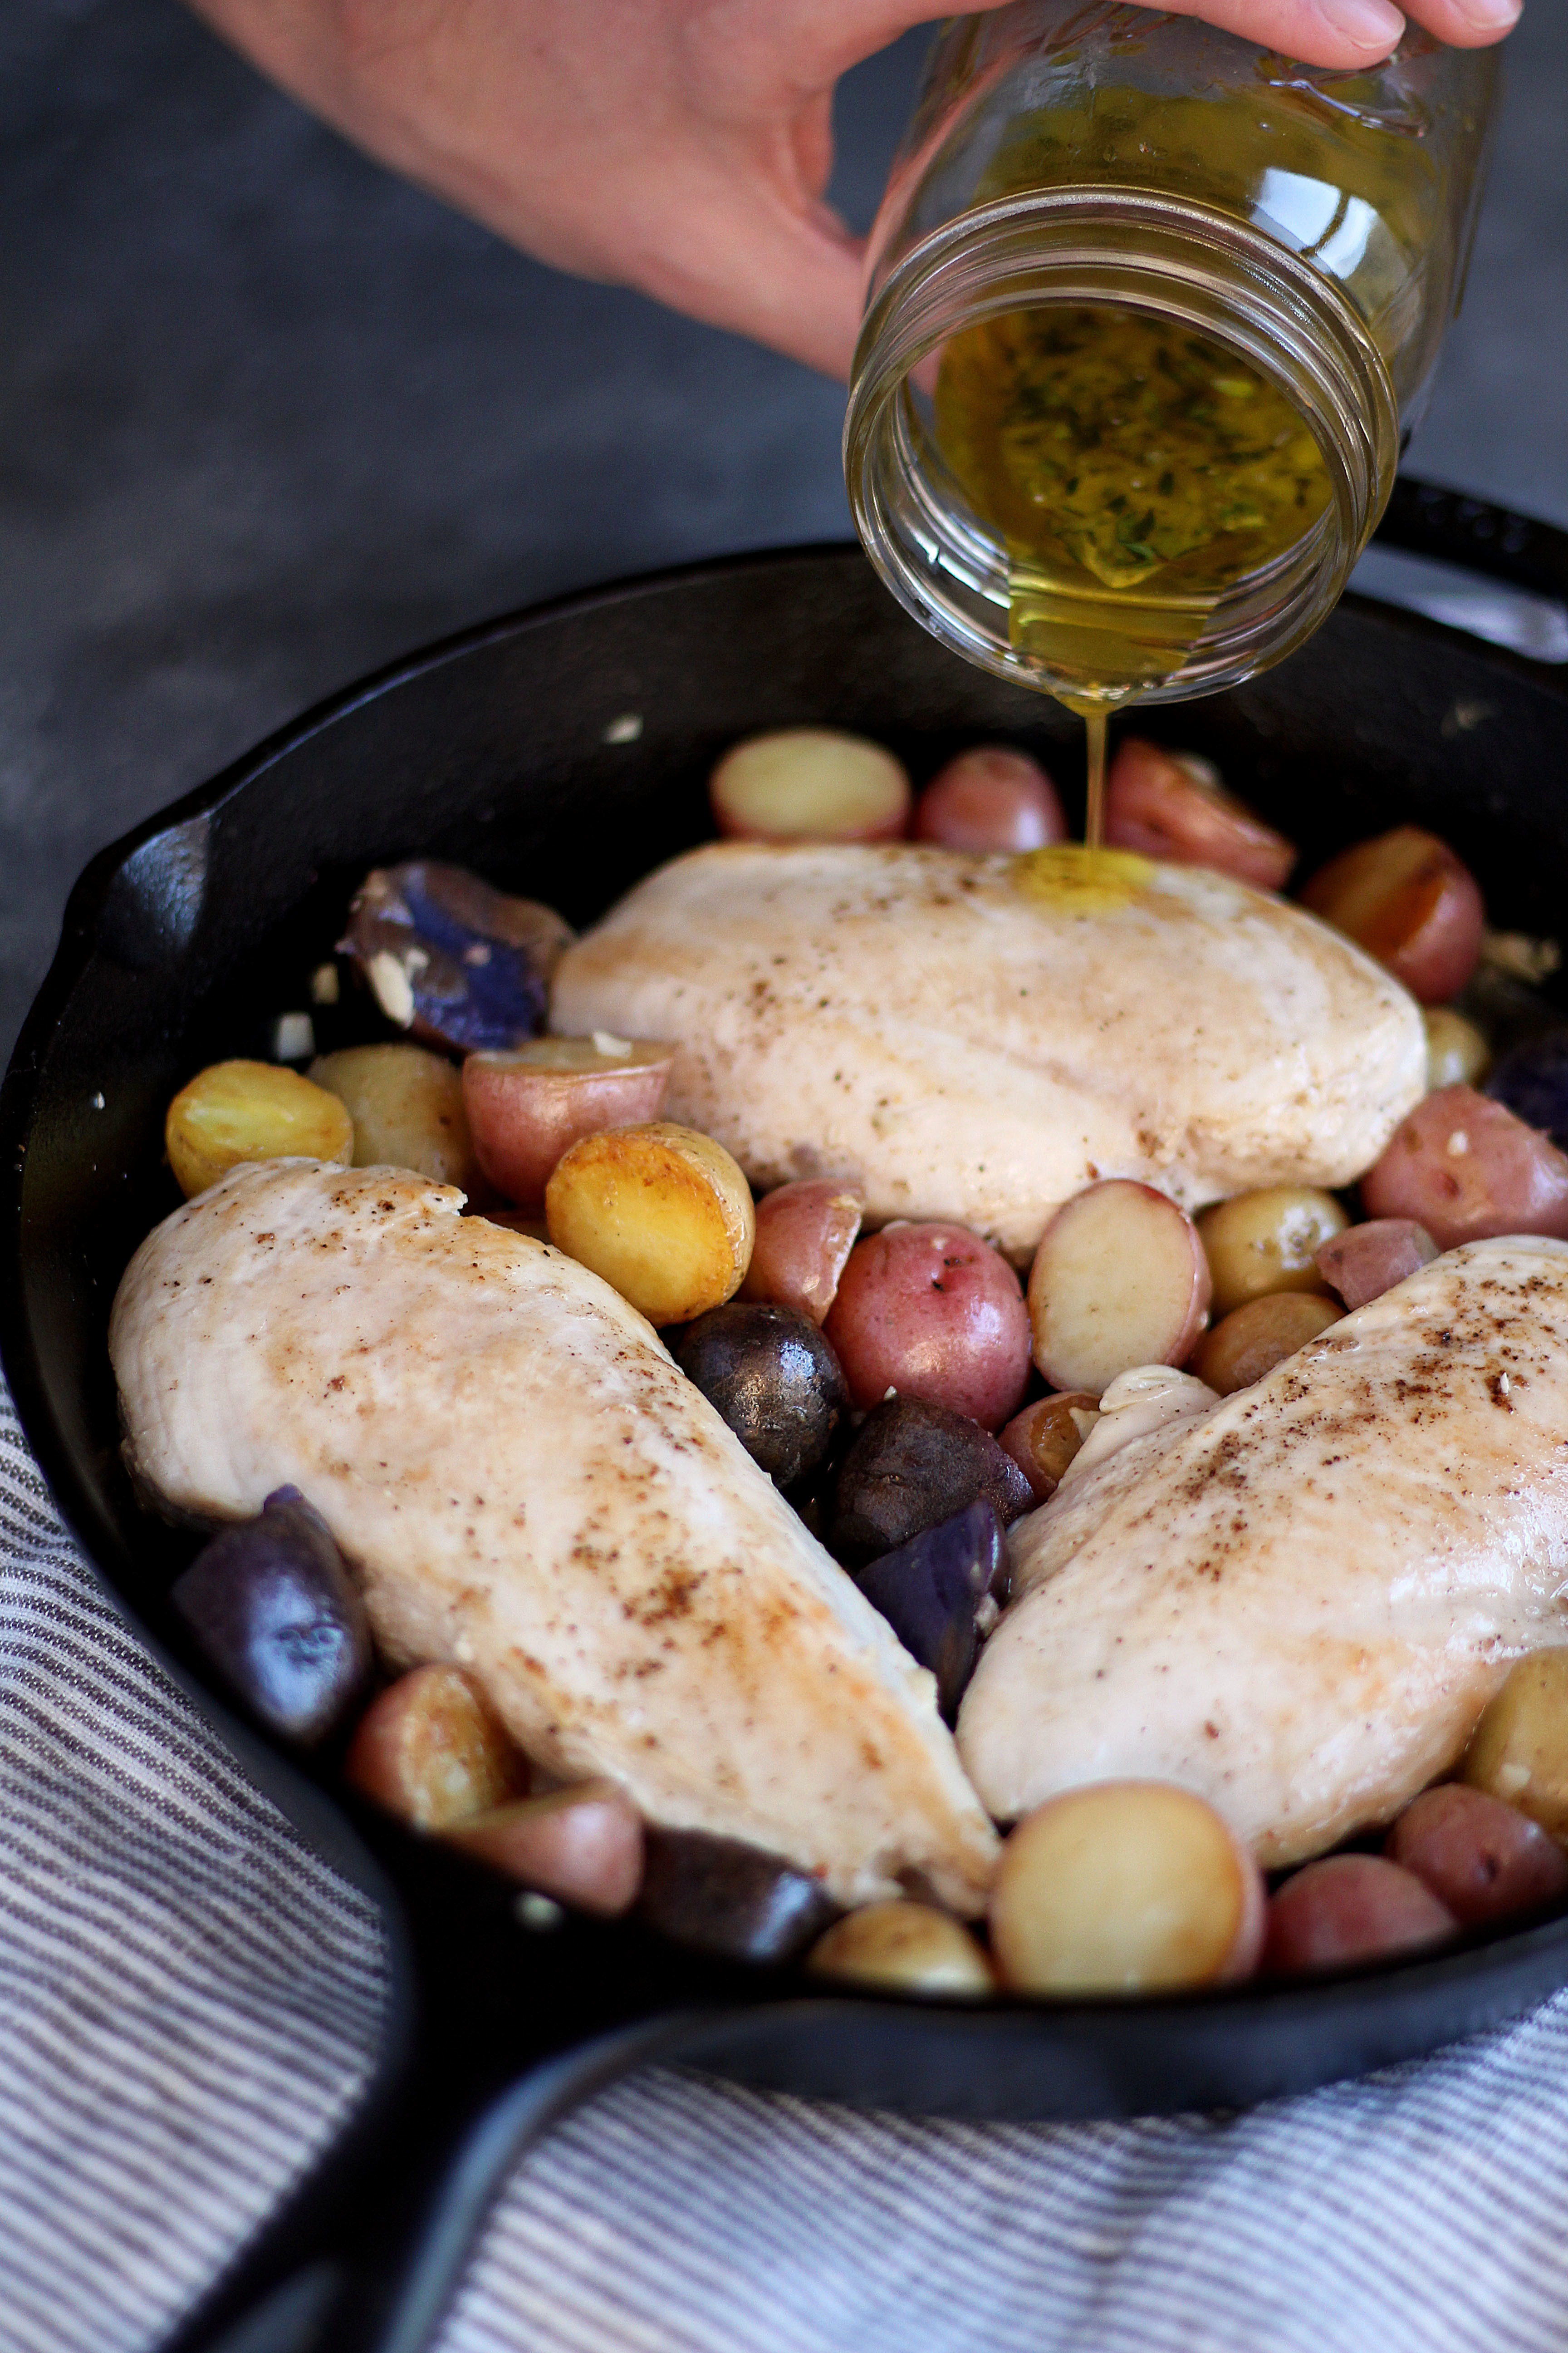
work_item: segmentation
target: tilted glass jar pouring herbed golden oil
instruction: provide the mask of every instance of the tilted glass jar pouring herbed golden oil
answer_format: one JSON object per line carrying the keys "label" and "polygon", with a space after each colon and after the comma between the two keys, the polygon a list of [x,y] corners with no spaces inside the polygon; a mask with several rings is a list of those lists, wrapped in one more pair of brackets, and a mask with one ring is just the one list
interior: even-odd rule
{"label": "tilted glass jar pouring herbed golden oil", "polygon": [[1458,308],[1495,87],[1418,28],[1326,73],[1117,0],[950,19],[844,428],[893,593],[1095,713],[1300,645]]}

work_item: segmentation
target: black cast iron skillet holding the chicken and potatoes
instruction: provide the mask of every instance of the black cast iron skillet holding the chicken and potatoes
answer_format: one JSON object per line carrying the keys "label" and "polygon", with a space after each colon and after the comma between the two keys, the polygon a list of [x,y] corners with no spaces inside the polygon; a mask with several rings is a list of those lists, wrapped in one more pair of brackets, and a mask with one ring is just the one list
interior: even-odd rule
{"label": "black cast iron skillet holding the chicken and potatoes", "polygon": [[[1403,485],[1382,536],[1568,595],[1563,534],[1446,492]],[[371,1894],[393,1962],[362,2113],[169,2346],[414,2353],[510,2158],[651,2057],[945,2115],[1133,2115],[1352,2075],[1568,1981],[1561,1918],[1316,1984],[987,2009],[844,2000],[630,1925],[536,1934],[498,1880],[209,1687],[165,1600],[188,1546],[132,1504],[103,1346],[120,1271],[174,1205],[169,1096],[306,1002],[367,866],[433,852],[585,922],[705,835],[726,744],[804,720],[891,744],[917,781],[976,736],[1034,746],[1058,779],[1081,767],[1056,706],[943,652],[856,548],[804,548],[604,588],[402,661],[106,849],[66,911],[0,1094],[5,1372],[103,1581],[256,1784]],[[1147,727],[1211,753],[1307,866],[1418,816],[1469,859],[1495,920],[1561,932],[1568,673],[1347,598],[1284,668]]]}

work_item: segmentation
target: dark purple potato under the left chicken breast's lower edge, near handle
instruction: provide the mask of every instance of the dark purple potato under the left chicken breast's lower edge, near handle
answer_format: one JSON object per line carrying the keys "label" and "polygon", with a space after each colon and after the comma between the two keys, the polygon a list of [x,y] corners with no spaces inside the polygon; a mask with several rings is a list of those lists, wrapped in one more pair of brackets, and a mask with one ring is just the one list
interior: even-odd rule
{"label": "dark purple potato under the left chicken breast's lower edge, near handle", "polygon": [[806,1871],[762,1847],[708,1831],[649,1828],[637,1913],[698,1953],[783,1962],[816,1944],[839,1906]]}

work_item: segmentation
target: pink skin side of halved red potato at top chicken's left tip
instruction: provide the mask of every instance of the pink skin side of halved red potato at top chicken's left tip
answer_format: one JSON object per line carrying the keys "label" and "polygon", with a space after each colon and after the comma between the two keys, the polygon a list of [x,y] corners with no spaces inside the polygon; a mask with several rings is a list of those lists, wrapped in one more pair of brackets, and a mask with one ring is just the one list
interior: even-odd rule
{"label": "pink skin side of halved red potato at top chicken's left tip", "polygon": [[463,1111],[473,1148],[503,1200],[538,1212],[555,1162],[604,1127],[644,1127],[663,1111],[675,1049],[621,1071],[527,1071],[470,1054]]}

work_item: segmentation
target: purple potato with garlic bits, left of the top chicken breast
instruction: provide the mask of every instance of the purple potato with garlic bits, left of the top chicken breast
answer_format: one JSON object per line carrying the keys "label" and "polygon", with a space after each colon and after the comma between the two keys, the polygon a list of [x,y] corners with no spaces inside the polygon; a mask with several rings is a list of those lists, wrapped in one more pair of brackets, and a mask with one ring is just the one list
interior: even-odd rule
{"label": "purple potato with garlic bits, left of the top chicken breast", "polygon": [[534,899],[508,899],[463,866],[414,859],[364,878],[339,951],[397,1028],[477,1054],[538,1035],[550,974],[574,936]]}

